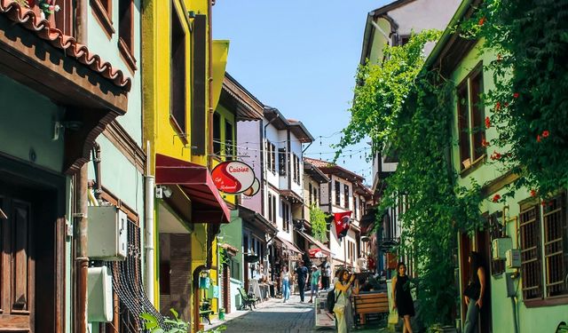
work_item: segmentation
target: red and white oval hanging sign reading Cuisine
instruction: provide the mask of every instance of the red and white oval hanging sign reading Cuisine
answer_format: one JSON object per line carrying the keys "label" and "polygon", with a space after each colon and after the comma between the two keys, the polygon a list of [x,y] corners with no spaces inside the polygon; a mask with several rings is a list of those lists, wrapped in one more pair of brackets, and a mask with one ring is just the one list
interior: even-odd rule
{"label": "red and white oval hanging sign reading Cuisine", "polygon": [[255,171],[246,163],[227,161],[219,163],[212,171],[211,178],[217,189],[226,194],[240,194],[255,182]]}

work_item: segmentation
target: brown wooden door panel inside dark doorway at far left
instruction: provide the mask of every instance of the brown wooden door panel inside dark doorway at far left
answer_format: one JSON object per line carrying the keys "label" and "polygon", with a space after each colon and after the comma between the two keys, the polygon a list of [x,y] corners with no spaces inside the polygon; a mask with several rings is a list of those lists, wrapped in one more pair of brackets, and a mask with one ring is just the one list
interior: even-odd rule
{"label": "brown wooden door panel inside dark doorway at far left", "polygon": [[0,194],[0,332],[33,332],[35,321],[34,223],[31,202]]}

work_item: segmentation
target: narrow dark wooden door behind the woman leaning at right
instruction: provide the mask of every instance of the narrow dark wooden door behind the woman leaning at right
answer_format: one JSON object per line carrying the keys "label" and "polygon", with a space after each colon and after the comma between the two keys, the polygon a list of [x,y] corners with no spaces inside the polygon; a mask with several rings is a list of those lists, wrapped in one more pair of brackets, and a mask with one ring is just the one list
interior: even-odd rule
{"label": "narrow dark wooden door behind the woman leaning at right", "polygon": [[477,252],[483,258],[485,268],[485,296],[483,297],[483,307],[479,312],[479,325],[477,327],[480,332],[493,332],[491,319],[491,274],[489,266],[491,265],[491,237],[489,230],[477,231],[476,234]]}

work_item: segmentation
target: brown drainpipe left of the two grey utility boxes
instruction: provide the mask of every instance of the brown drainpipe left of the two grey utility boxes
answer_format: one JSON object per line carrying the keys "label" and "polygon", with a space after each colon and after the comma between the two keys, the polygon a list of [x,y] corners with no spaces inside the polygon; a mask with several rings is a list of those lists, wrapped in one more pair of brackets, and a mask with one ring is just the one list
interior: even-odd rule
{"label": "brown drainpipe left of the two grey utility boxes", "polygon": [[75,176],[76,213],[75,218],[75,332],[87,333],[87,210],[88,210],[88,164],[85,163]]}

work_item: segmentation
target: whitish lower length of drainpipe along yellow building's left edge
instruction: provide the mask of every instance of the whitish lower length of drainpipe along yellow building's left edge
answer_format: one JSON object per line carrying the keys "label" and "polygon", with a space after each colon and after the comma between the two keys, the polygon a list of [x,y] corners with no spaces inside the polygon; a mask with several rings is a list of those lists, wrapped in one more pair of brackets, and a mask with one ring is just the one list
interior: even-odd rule
{"label": "whitish lower length of drainpipe along yellow building's left edge", "polygon": [[146,296],[150,303],[154,305],[154,186],[156,180],[154,176],[151,175],[150,171],[150,141],[146,141],[146,184],[145,184],[145,194],[146,198],[146,210],[144,211],[144,221],[145,221],[145,275],[146,275]]}

